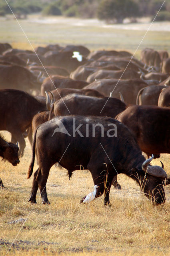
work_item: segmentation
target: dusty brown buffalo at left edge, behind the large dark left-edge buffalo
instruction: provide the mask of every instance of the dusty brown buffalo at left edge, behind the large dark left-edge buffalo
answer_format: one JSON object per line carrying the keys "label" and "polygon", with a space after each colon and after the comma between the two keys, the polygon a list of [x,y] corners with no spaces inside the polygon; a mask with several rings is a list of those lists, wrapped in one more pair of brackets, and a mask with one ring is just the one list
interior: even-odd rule
{"label": "dusty brown buffalo at left edge, behind the large dark left-edge buffalo", "polygon": [[30,91],[40,89],[40,83],[27,68],[18,65],[1,65],[0,89],[6,88]]}

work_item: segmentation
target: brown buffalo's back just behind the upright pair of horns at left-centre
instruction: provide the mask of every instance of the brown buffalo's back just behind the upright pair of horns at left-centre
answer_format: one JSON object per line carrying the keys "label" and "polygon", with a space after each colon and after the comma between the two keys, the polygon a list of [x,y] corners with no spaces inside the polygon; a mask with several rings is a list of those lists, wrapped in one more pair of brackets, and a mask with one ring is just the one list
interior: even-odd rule
{"label": "brown buffalo's back just behind the upright pair of horns at left-centre", "polygon": [[70,78],[46,78],[41,85],[41,95],[46,96],[45,91],[52,91],[56,88],[74,88],[82,89],[84,86],[88,85],[85,81],[72,80]]}

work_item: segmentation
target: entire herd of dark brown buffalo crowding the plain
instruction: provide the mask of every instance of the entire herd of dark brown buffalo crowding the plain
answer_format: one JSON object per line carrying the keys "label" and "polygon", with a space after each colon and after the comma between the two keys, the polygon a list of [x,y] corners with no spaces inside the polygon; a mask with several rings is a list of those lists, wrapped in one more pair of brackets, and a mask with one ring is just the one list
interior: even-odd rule
{"label": "entire herd of dark brown buffalo crowding the plain", "polygon": [[121,189],[120,173],[136,180],[154,204],[164,203],[170,178],[163,164],[150,162],[170,153],[169,85],[165,50],[145,48],[138,60],[127,51],[90,52],[79,45],[39,46],[32,52],[1,43],[0,130],[11,133],[11,142],[0,135],[0,156],[19,164],[28,136],[28,178],[35,158],[38,162],[31,203],[39,188],[43,204],[50,204],[46,182],[56,163],[68,170],[69,179],[74,170],[88,169],[95,198],[104,194],[105,205],[111,185]]}

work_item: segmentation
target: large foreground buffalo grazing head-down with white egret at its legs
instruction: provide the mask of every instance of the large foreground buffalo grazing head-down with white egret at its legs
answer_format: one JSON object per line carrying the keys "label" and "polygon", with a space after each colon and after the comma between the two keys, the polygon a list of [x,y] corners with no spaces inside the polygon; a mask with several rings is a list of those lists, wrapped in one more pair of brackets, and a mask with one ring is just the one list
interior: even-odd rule
{"label": "large foreground buffalo grazing head-down with white egret at its legs", "polygon": [[98,185],[95,198],[104,194],[104,204],[110,203],[112,180],[120,173],[136,180],[156,204],[165,202],[162,183],[167,178],[166,172],[160,166],[150,166],[152,158],[145,160],[130,130],[112,118],[59,116],[40,125],[34,136],[28,178],[33,172],[35,152],[39,167],[34,173],[29,199],[32,203],[36,203],[39,187],[42,203],[50,204],[46,182],[56,162],[68,170],[69,177],[82,166],[88,169]]}

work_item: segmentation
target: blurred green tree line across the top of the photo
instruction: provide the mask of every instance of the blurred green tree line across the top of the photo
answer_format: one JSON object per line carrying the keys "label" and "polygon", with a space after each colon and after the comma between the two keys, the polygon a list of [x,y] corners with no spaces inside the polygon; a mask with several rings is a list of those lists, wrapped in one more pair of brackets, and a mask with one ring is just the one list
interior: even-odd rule
{"label": "blurred green tree line across the top of the photo", "polygon": [[[64,15],[66,17],[98,18],[107,23],[122,23],[124,18],[154,17],[163,0],[8,0],[14,14]],[[10,14],[0,0],[0,15]],[[156,20],[170,20],[170,0],[166,0]]]}

